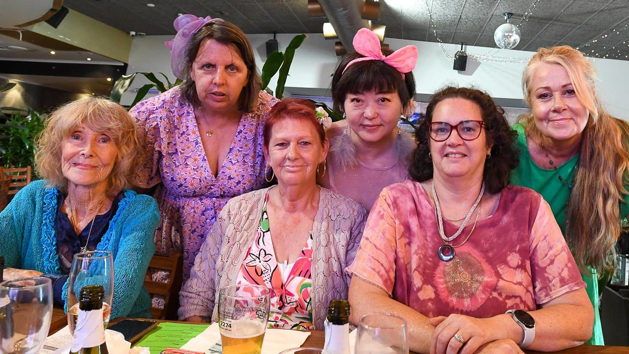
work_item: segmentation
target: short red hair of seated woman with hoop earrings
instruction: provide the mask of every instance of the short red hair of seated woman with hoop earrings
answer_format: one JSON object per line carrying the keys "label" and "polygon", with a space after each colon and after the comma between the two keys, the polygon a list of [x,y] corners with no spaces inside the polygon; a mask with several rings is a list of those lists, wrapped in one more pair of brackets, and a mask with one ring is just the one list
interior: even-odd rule
{"label": "short red hair of seated woman with hoop earrings", "polygon": [[304,98],[288,97],[276,103],[269,111],[267,121],[264,123],[264,146],[269,148],[271,130],[274,124],[284,119],[303,119],[313,124],[321,139],[321,144],[325,141],[325,130],[316,118],[315,104]]}

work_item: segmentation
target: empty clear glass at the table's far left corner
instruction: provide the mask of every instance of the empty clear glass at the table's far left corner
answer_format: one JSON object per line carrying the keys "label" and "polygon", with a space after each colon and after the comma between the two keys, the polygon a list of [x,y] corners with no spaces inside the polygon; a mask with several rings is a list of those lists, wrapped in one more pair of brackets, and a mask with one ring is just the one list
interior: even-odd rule
{"label": "empty clear glass at the table's far left corner", "polygon": [[37,277],[0,283],[0,354],[35,354],[52,319],[52,282]]}

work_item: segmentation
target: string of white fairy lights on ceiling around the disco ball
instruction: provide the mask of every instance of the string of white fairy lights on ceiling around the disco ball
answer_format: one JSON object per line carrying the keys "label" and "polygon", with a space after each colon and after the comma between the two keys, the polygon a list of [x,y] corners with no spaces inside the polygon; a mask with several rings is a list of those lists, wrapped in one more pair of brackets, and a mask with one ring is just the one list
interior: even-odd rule
{"label": "string of white fairy lights on ceiling around the disco ball", "polygon": [[[526,25],[526,23],[528,22],[528,19],[533,14],[536,6],[538,5],[538,3],[540,3],[540,1],[541,0],[533,0],[533,2],[530,4],[530,6],[528,7],[526,12],[520,19],[520,22],[518,22],[517,24],[520,30]],[[425,0],[425,2],[426,2],[426,8],[428,9],[428,16],[430,18],[430,28],[428,30],[433,33],[433,36],[437,40],[437,43],[439,44],[439,47],[441,48],[443,55],[445,55],[445,57],[447,57],[448,60],[456,60],[457,57],[459,56],[459,53],[461,52],[458,51],[455,55],[450,55],[450,53],[448,53],[445,46],[443,45],[442,39],[439,37],[437,33],[437,25],[435,23],[435,19],[433,18],[431,6],[430,4],[428,4],[428,0]],[[623,58],[623,57],[629,58],[629,55],[624,55],[620,49],[620,47],[629,47],[629,39],[621,43],[619,40],[618,44],[603,46],[603,48],[601,48],[598,45],[599,40],[601,41],[606,40],[606,38],[608,38],[609,36],[620,35],[621,33],[625,31],[626,33],[629,33],[628,30],[629,30],[629,25],[625,25],[621,27],[620,29],[613,28],[610,32],[597,36],[593,38],[592,40],[590,40],[589,42],[585,43],[584,45],[576,47],[576,49],[580,50],[581,53],[583,53],[583,55],[586,55],[586,57],[608,58],[608,59],[618,59],[618,58]],[[469,53],[466,51],[465,54],[467,54],[468,59],[474,60],[476,62],[526,63],[529,60],[529,58],[501,57],[499,55],[496,55],[500,50],[501,48],[496,47],[496,48],[492,48],[487,53],[475,54],[475,53]]]}

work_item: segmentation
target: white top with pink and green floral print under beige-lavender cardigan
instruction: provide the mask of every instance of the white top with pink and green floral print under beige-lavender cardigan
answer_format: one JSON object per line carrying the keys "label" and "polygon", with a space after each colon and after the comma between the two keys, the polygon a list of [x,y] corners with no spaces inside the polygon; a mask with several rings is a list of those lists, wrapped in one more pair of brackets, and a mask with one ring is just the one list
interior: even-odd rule
{"label": "white top with pink and green floral print under beige-lavender cardigan", "polygon": [[264,197],[257,236],[240,267],[237,284],[264,285],[270,289],[269,328],[313,330],[310,297],[313,235],[310,233],[295,263],[277,263],[269,229],[268,200],[269,192]]}

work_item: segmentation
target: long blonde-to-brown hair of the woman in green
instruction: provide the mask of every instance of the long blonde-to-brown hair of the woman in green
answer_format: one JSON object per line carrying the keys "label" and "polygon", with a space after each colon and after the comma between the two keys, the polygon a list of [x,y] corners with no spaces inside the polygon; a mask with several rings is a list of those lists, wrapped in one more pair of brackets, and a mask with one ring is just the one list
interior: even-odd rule
{"label": "long blonde-to-brown hair of the woman in green", "polygon": [[[537,64],[561,65],[572,82],[579,102],[589,116],[581,139],[581,156],[575,172],[565,237],[582,273],[587,267],[613,271],[615,244],[620,235],[620,206],[627,194],[629,125],[607,113],[596,97],[596,69],[581,52],[562,45],[540,48],[522,75],[526,102],[531,104],[530,83]],[[532,115],[526,119],[526,135],[541,137]]]}

